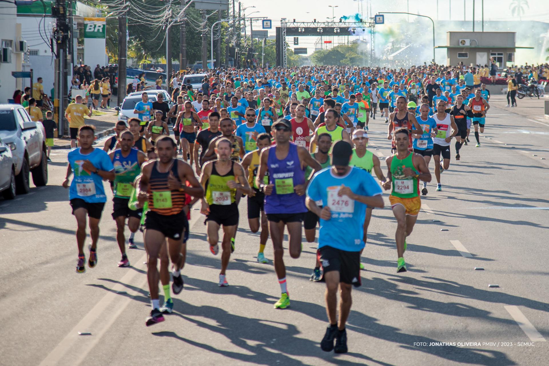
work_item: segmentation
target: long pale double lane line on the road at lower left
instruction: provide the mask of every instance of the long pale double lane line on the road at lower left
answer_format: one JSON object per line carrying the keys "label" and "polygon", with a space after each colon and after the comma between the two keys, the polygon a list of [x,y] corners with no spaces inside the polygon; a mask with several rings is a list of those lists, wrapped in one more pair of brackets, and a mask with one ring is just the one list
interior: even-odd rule
{"label": "long pale double lane line on the road at lower left", "polygon": [[[193,227],[194,224],[200,218],[202,215],[194,215],[194,218],[189,222],[189,228]],[[145,253],[141,259],[139,259],[136,263],[141,264],[144,260],[147,259],[147,254]],[[80,364],[84,358],[87,356],[89,351],[92,350],[92,348],[99,342],[100,338],[105,334],[105,332],[113,325],[113,323],[116,321],[116,319],[120,316],[120,314],[124,311],[126,306],[130,304],[130,301],[133,300],[132,296],[131,298],[125,299],[122,304],[119,304],[119,307],[117,308],[117,311],[113,313],[113,315],[108,318],[108,321],[104,324],[102,324],[102,321],[104,321],[107,318],[102,318],[101,321],[97,321],[99,316],[107,309],[107,307],[111,304],[111,302],[115,300],[120,299],[120,294],[117,294],[116,291],[128,291],[128,288],[125,284],[132,284],[133,279],[137,277],[139,272],[132,271],[127,272],[124,277],[122,277],[119,281],[119,283],[115,284],[113,288],[110,289],[109,293],[107,293],[99,302],[90,310],[82,319],[81,321],[75,325],[74,328],[72,328],[69,333],[59,342],[59,344],[46,356],[46,358],[43,359],[43,361],[40,363],[40,366],[50,366],[50,365],[57,365],[59,364],[59,361],[65,356],[65,354],[69,351],[71,353],[77,354],[78,359],[77,363],[73,363],[74,365]],[[136,288],[142,288],[147,283],[147,276],[145,276],[142,281],[139,281],[138,284],[136,284]],[[132,291],[135,292],[136,295],[140,295],[138,291]],[[78,332],[83,330],[90,330],[90,328],[93,326],[94,332],[92,335],[92,338],[88,338],[87,340],[91,340],[91,343],[85,343],[86,340],[82,340],[82,338],[79,338]],[[76,342],[79,341],[81,343],[76,344]],[[84,343],[82,343],[84,342]]]}

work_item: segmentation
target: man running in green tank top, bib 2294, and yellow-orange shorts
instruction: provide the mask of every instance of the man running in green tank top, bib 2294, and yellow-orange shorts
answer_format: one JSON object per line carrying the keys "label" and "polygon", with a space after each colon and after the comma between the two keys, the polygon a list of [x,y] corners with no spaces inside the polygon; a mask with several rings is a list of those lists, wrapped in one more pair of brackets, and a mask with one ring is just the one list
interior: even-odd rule
{"label": "man running in green tank top, bib 2294, and yellow-orange shorts", "polygon": [[[444,113],[444,109],[442,109],[444,101],[439,101],[439,106]],[[395,234],[398,258],[397,273],[406,272],[406,262],[404,261],[404,252],[407,247],[406,238],[412,233],[421,209],[421,198],[418,192],[419,181],[431,181],[431,174],[423,157],[408,151],[410,143],[408,135],[410,135],[410,131],[406,128],[395,131],[396,153],[386,159],[388,180],[383,185],[385,190],[389,190],[391,184],[393,185],[389,201],[397,221]]]}

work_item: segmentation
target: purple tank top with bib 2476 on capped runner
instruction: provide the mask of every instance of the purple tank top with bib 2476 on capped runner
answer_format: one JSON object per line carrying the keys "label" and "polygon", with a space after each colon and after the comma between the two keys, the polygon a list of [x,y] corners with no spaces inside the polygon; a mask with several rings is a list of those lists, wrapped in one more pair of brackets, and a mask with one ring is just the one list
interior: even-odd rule
{"label": "purple tank top with bib 2476 on capped runner", "polygon": [[271,195],[265,195],[266,214],[294,214],[307,212],[305,195],[298,196],[294,187],[305,183],[305,170],[301,169],[298,146],[290,142],[288,156],[276,157],[276,145],[269,147],[267,159],[269,184],[275,185]]}

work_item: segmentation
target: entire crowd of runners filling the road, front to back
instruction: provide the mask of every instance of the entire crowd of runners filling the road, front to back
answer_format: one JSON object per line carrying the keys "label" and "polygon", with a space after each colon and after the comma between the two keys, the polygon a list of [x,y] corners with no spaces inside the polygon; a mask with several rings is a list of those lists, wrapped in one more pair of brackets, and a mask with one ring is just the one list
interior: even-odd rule
{"label": "entire crowd of runners filling the road, front to back", "polygon": [[[118,265],[130,266],[126,250],[136,248],[135,233],[141,230],[152,304],[146,325],[163,322],[163,314],[173,310],[171,291],[179,294],[184,286],[193,205],[198,203],[205,216],[212,255],[221,251],[219,286],[225,287],[241,224],[239,202],[245,200],[249,230],[260,232],[257,262],[269,263],[264,253],[269,238],[273,245],[281,289],[275,308],[290,306],[284,230],[292,258],[301,255],[302,229],[307,242],[318,243],[311,281],[326,283],[329,319],[321,348],[347,352],[351,289],[361,285],[361,254],[372,210],[384,207],[382,192],[390,193],[397,222],[396,271],[406,272],[406,238],[416,224],[421,195],[428,194],[430,160],[441,191],[452,146],[456,160],[470,153],[463,145],[470,142],[471,125],[480,147],[490,93],[484,84],[469,84],[474,72],[438,65],[215,70],[204,79],[208,93],[185,88],[183,98],[173,90],[176,104],[165,114],[149,106],[144,93],[136,105],[139,118],[119,121],[103,149],[93,147],[92,126],[77,131],[78,147],[68,155],[63,182],[77,222],[76,272],[86,271],[88,226],[87,267],[97,265],[107,201],[103,181],[108,180]],[[383,162],[368,150],[368,124],[376,117],[391,140],[391,155]]]}

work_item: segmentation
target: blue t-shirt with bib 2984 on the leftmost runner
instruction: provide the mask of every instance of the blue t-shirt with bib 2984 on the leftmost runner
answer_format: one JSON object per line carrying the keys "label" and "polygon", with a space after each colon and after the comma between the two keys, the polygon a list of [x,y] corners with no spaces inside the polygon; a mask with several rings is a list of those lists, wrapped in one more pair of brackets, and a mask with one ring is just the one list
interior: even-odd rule
{"label": "blue t-shirt with bib 2984 on the leftmost runner", "polygon": [[80,147],[77,147],[69,152],[67,158],[74,173],[69,189],[69,199],[80,198],[89,203],[107,202],[103,178],[82,169],[82,163],[89,160],[97,169],[111,171],[114,170],[114,166],[109,154],[100,148],[94,148],[91,153],[82,155]]}

